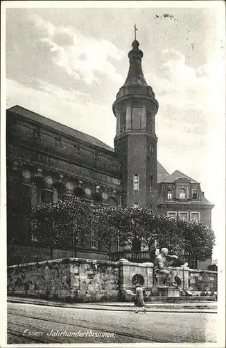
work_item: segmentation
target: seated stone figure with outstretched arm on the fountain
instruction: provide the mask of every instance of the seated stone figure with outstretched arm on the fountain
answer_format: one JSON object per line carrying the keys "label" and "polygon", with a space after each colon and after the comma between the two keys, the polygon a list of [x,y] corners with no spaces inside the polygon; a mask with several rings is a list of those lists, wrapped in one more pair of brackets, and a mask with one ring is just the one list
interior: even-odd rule
{"label": "seated stone figure with outstretched arm on the fountain", "polygon": [[[173,259],[172,261],[168,262],[167,258]],[[157,278],[157,285],[159,286],[175,286],[176,283],[171,278],[171,270],[168,269],[168,266],[171,266],[171,264],[174,262],[174,260],[177,260],[178,256],[176,255],[168,255],[168,249],[162,248],[159,255],[155,258],[155,264],[154,264],[154,272],[155,276]],[[167,285],[166,285],[167,282]]]}

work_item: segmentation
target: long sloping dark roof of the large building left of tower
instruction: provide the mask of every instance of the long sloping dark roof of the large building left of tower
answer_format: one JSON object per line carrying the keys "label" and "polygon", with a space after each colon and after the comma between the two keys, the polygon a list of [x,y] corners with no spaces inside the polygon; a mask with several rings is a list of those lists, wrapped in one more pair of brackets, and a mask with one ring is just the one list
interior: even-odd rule
{"label": "long sloping dark roof of the large building left of tower", "polygon": [[66,125],[62,125],[62,123],[51,120],[50,118],[46,118],[46,117],[44,117],[38,113],[35,113],[31,110],[24,109],[22,106],[15,105],[15,106],[12,106],[7,111],[10,111],[12,113],[16,113],[19,116],[23,116],[24,118],[28,118],[29,120],[33,120],[35,122],[38,122],[41,125],[44,125],[46,127],[51,127],[52,129],[55,129],[55,131],[63,132],[66,135],[73,136],[74,138],[77,138],[81,141],[85,141],[86,143],[92,144],[94,146],[98,146],[98,148],[103,148],[103,149],[108,150],[110,152],[114,152],[113,148],[111,148],[107,144],[103,143],[102,141],[94,138],[94,136],[82,133],[82,132],[78,131],[77,129],[67,127]]}

